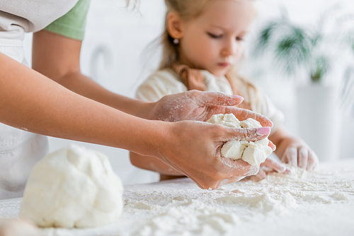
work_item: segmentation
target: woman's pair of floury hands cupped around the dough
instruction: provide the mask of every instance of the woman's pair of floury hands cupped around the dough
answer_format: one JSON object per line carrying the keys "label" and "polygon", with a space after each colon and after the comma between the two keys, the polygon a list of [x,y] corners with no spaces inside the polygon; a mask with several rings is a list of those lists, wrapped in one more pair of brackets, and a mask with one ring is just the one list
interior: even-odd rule
{"label": "woman's pair of floury hands cupped around the dough", "polygon": [[[190,90],[186,93],[167,95],[155,102],[149,119],[166,122],[166,137],[159,144],[155,157],[164,161],[181,174],[190,177],[202,189],[217,189],[249,175],[256,175],[258,166],[244,160],[229,160],[221,155],[227,141],[244,139],[258,141],[266,138],[273,126],[269,119],[250,110],[232,107],[243,98],[224,93]],[[237,129],[207,124],[213,114],[232,113],[238,119],[256,119],[263,126],[258,129]],[[193,120],[194,122],[179,122]],[[203,121],[203,122],[195,122]],[[273,146],[273,143],[270,143]]]}

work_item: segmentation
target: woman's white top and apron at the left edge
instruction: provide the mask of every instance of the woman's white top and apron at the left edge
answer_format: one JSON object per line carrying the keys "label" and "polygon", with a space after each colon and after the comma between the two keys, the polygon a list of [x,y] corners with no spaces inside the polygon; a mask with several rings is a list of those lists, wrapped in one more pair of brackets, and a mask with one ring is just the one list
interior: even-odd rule
{"label": "woman's white top and apron at the left edge", "polygon": [[[64,16],[78,0],[1,0],[0,52],[25,64],[25,32],[45,28]],[[0,123],[0,199],[23,196],[35,163],[48,151],[46,136]]]}

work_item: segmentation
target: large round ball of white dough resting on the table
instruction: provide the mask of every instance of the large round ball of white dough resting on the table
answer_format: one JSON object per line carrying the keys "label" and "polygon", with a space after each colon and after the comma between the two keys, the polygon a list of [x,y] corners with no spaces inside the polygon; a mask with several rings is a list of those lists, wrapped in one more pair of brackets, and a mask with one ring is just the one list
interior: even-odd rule
{"label": "large round ball of white dough resting on the table", "polygon": [[122,191],[105,155],[72,145],[35,165],[19,216],[40,227],[98,227],[120,216]]}

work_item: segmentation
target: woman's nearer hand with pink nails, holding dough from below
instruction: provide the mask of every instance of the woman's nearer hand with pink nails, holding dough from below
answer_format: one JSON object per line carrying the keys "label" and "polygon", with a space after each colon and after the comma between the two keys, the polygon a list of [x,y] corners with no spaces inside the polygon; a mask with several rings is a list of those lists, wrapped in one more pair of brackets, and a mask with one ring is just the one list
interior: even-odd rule
{"label": "woman's nearer hand with pink nails, holding dough from below", "polygon": [[185,121],[166,125],[169,128],[157,148],[156,157],[193,179],[202,189],[217,189],[256,175],[259,166],[251,166],[244,160],[222,158],[221,148],[227,141],[257,141],[270,133],[269,127],[237,129],[205,122]]}

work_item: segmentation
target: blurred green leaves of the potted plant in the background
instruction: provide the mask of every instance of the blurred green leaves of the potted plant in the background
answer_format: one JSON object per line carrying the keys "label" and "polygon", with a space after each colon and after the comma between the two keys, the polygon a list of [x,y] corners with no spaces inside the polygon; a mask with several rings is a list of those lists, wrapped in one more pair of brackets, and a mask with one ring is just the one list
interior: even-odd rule
{"label": "blurred green leaves of the potted plant in the background", "polygon": [[287,11],[282,10],[280,18],[271,20],[261,29],[253,54],[258,57],[271,52],[275,65],[287,76],[295,76],[305,70],[313,83],[321,83],[333,61],[341,56],[341,49],[349,46],[354,53],[354,33],[340,32],[338,25],[327,32],[325,26],[329,16],[331,13],[326,12],[316,25],[300,26],[290,20]]}

